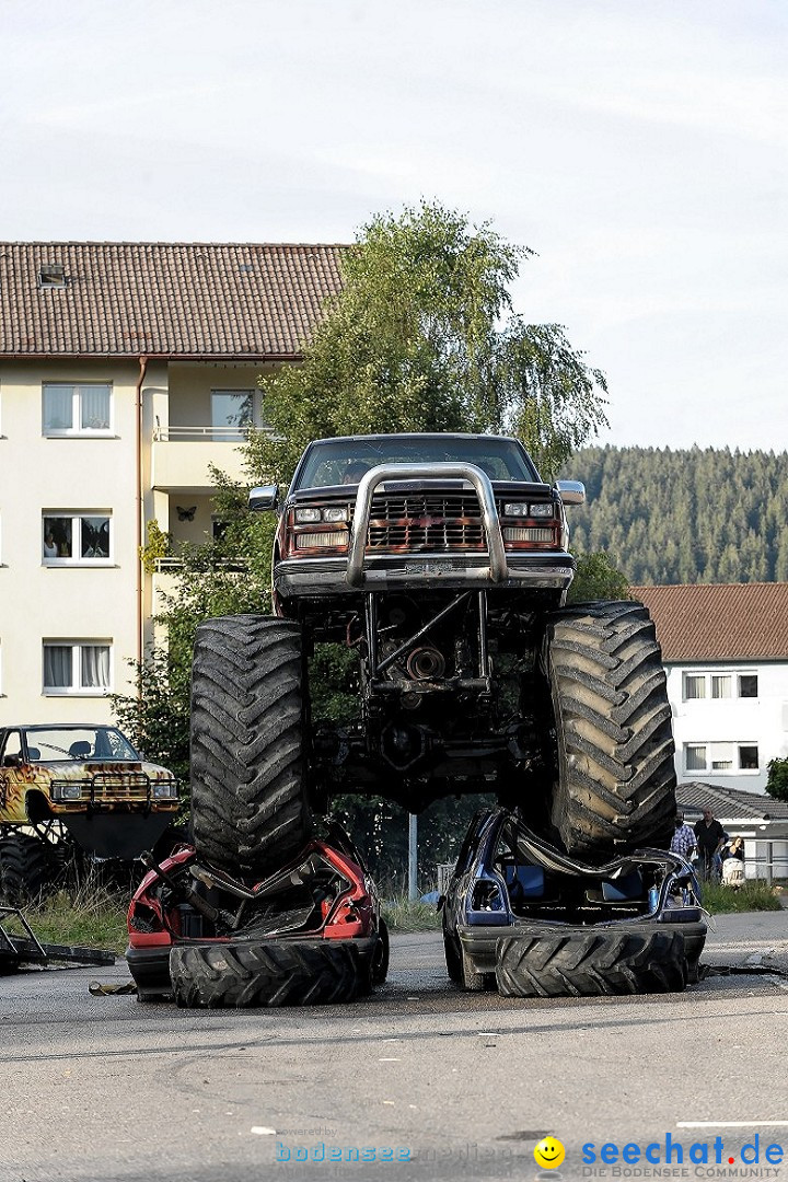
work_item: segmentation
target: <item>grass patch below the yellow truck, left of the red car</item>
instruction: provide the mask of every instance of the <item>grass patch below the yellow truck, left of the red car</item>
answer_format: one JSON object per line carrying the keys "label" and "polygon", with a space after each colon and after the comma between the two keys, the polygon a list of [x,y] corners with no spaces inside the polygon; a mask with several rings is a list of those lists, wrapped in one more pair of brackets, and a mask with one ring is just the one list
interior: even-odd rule
{"label": "grass patch below the yellow truck, left of the red car", "polygon": [[[26,904],[21,911],[43,944],[79,944],[122,954],[129,943],[128,908],[128,895],[84,882],[74,891],[58,891],[40,903]],[[15,920],[7,921],[6,930],[24,935]]]}

